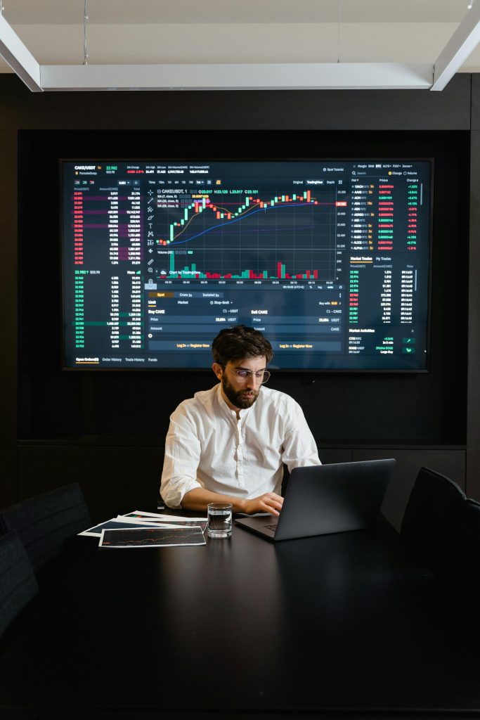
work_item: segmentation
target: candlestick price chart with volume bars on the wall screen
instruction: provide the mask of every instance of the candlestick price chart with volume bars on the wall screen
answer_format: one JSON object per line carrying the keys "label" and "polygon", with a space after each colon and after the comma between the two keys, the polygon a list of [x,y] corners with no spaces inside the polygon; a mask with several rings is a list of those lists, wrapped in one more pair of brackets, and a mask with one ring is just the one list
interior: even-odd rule
{"label": "candlestick price chart with volume bars on the wall screen", "polygon": [[[173,279],[335,279],[335,189],[258,194],[237,189],[158,201]],[[340,204],[346,204],[340,202]],[[176,206],[176,207],[175,207]],[[168,262],[166,262],[168,261]]]}

